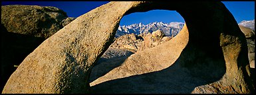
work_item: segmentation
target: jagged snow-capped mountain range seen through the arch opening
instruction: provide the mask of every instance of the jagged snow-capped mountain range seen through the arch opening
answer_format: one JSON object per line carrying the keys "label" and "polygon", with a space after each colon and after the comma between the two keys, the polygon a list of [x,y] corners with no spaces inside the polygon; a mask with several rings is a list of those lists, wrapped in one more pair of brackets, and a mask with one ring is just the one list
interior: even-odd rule
{"label": "jagged snow-capped mountain range seen through the arch opening", "polygon": [[128,26],[119,26],[116,37],[124,34],[143,34],[144,32],[154,32],[158,29],[162,30],[166,36],[176,36],[184,26],[183,22],[152,22],[150,24],[131,24]]}

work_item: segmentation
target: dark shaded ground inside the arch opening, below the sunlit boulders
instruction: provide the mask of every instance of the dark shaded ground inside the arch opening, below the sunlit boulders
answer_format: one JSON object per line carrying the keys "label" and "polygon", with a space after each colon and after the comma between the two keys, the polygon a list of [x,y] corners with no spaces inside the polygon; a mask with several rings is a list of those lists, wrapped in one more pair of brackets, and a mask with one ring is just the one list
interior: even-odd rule
{"label": "dark shaded ground inside the arch opening, below the sunlit boulders", "polygon": [[124,61],[132,54],[133,52],[129,51],[127,55],[111,57],[110,59],[100,57],[100,59],[98,59],[98,61],[92,68],[89,82],[93,82],[99,77],[106,75],[106,73],[108,73],[112,69],[122,65],[122,63],[124,63]]}

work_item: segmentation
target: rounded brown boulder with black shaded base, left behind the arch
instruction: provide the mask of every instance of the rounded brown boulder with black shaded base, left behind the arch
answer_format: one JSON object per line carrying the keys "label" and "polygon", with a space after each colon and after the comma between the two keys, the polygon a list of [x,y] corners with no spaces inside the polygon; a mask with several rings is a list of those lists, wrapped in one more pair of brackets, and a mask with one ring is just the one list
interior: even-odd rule
{"label": "rounded brown boulder with black shaded base, left behind the arch", "polygon": [[[29,53],[74,18],[56,7],[1,6],[1,89]],[[8,67],[7,67],[8,65]]]}

